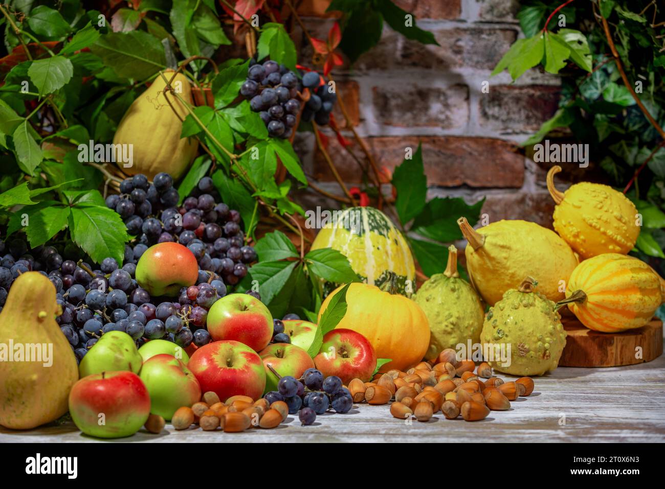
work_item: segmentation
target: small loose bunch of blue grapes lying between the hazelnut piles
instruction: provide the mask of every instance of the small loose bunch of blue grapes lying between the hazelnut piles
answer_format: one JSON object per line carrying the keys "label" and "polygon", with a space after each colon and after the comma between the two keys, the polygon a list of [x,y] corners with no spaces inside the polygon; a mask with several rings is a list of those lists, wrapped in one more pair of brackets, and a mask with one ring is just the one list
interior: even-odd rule
{"label": "small loose bunch of blue grapes lying between the hazelnut piles", "polygon": [[284,401],[289,406],[289,414],[299,413],[303,425],[311,425],[317,415],[329,409],[336,413],[348,413],[353,407],[353,397],[342,379],[336,375],[323,377],[317,369],[307,369],[300,379],[291,375],[281,377],[277,391],[270,391],[263,397],[269,402]]}

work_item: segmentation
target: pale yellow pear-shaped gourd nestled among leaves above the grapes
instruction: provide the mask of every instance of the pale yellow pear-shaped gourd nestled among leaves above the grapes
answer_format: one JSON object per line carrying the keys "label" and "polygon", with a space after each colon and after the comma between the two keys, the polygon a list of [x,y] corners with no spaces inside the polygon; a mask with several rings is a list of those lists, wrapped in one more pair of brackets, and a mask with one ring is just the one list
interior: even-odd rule
{"label": "pale yellow pear-shaped gourd nestled among leaves above the grapes", "polygon": [[[184,74],[178,73],[174,78],[173,70],[164,70],[163,73],[178,95],[191,104],[192,87]],[[152,179],[160,171],[166,171],[178,179],[196,156],[198,141],[195,138],[180,138],[181,120],[188,112],[175,94],[164,94],[164,78],[158,74],[152,85],[132,102],[118,124],[113,144],[133,145],[132,166],[125,167],[126,163],[120,161],[117,163],[128,175],[143,173]]]}

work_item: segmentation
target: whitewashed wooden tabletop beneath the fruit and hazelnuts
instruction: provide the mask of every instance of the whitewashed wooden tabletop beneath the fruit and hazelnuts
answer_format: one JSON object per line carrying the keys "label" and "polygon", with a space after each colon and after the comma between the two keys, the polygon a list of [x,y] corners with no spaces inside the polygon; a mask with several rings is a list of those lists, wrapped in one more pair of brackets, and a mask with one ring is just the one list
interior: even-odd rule
{"label": "whitewashed wooden tabletop beneath the fruit and hazelnuts", "polygon": [[[499,374],[504,379],[508,378]],[[73,423],[31,431],[0,427],[0,443],[97,442]],[[160,435],[144,430],[122,442],[664,442],[665,355],[630,367],[582,369],[559,367],[535,378],[529,397],[513,401],[510,411],[492,411],[483,421],[445,419],[440,413],[428,423],[395,419],[388,405],[355,405],[344,415],[317,417],[301,426],[296,416],[271,430],[245,433],[204,432],[192,427]]]}

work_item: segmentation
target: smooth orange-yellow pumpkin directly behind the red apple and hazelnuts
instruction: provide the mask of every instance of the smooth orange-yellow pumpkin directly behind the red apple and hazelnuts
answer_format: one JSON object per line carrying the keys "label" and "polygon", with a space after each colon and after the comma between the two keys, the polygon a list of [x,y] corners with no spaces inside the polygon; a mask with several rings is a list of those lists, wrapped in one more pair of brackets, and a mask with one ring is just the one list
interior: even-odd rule
{"label": "smooth orange-yellow pumpkin directly behind the red apple and hazelnuts", "polygon": [[[323,301],[319,320],[341,289],[336,288]],[[382,372],[408,369],[423,359],[430,345],[430,324],[416,302],[360,282],[348,287],[346,314],[337,328],[357,331],[372,343],[377,358],[392,359],[381,367]]]}

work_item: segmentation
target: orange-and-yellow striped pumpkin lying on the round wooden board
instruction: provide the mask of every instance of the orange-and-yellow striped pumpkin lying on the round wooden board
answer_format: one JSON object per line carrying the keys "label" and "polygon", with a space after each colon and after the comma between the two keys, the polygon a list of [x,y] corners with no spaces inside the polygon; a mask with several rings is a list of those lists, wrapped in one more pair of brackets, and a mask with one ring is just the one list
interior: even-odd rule
{"label": "orange-and-yellow striped pumpkin lying on the round wooden board", "polygon": [[614,333],[641,328],[662,302],[660,278],[632,256],[604,253],[581,262],[568,280],[569,309],[590,330]]}

